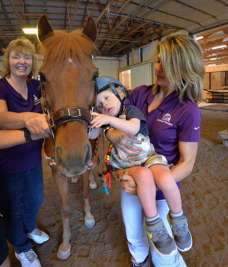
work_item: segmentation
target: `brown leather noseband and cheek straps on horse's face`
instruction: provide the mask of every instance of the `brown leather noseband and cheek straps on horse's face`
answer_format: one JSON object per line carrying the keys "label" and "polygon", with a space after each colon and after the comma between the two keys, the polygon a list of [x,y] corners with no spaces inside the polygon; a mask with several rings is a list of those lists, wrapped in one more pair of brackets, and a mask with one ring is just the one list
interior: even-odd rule
{"label": "brown leather noseband and cheek straps on horse's face", "polygon": [[[48,115],[49,117],[49,128],[52,134],[53,142],[55,144],[55,133],[54,133],[54,126],[56,125],[61,125],[63,123],[67,123],[72,120],[79,120],[84,123],[90,123],[92,120],[92,115],[90,114],[90,111],[86,110],[83,107],[77,107],[77,106],[70,106],[70,107],[65,107],[56,112],[54,116],[51,116],[50,110],[47,106],[47,98],[45,95],[44,91],[44,83],[40,83],[40,90],[41,90],[41,96],[42,96],[42,101],[41,101],[41,106],[43,109],[43,112]],[[96,106],[96,101],[97,101],[97,94],[98,94],[98,87],[97,83],[95,82],[94,84],[94,97],[93,97],[93,102],[90,105],[90,110],[93,112],[93,109]],[[88,128],[88,139],[90,135],[90,130],[91,127]]]}

